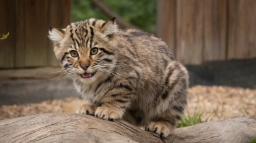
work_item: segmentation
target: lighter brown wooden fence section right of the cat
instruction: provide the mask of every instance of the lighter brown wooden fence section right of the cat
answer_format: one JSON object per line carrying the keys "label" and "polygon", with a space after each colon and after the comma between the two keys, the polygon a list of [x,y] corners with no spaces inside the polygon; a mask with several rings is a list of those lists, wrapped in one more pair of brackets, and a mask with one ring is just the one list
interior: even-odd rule
{"label": "lighter brown wooden fence section right of the cat", "polygon": [[157,3],[157,34],[182,63],[256,58],[255,0]]}

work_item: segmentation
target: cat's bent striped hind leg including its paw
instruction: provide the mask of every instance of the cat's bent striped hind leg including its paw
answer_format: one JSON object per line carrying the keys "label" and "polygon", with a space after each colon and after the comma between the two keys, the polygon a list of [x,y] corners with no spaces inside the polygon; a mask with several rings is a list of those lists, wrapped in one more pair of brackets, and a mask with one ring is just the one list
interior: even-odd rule
{"label": "cat's bent striped hind leg including its paw", "polygon": [[179,61],[169,63],[164,72],[164,88],[157,95],[156,108],[151,113],[146,131],[168,137],[183,116],[187,104],[188,72]]}

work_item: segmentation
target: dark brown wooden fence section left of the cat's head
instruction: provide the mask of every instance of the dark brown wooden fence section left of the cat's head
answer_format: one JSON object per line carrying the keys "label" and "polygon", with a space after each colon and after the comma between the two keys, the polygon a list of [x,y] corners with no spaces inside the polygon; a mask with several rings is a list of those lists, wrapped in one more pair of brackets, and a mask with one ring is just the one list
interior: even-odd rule
{"label": "dark brown wooden fence section left of the cat's head", "polygon": [[47,38],[48,25],[70,23],[71,0],[1,0],[0,68],[57,65]]}

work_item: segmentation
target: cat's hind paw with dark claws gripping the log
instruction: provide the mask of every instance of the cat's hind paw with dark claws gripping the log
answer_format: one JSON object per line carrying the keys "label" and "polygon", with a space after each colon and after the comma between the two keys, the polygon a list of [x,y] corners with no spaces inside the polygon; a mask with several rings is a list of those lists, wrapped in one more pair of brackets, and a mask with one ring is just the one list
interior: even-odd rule
{"label": "cat's hind paw with dark claws gripping the log", "polygon": [[166,138],[168,137],[172,131],[173,131],[173,126],[170,124],[170,122],[150,122],[147,124],[145,127],[146,131],[151,131],[153,133],[157,133],[157,135],[160,136],[160,138]]}

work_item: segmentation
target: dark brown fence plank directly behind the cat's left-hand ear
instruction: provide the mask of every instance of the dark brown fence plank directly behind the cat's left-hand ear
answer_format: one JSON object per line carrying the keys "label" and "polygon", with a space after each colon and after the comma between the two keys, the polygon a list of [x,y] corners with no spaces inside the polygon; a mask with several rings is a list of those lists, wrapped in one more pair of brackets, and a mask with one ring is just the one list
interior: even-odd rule
{"label": "dark brown fence plank directly behind the cat's left-hand ear", "polygon": [[[70,0],[49,0],[49,23],[56,28],[66,28],[70,24]],[[53,52],[53,45],[48,40],[48,65],[59,65]]]}

